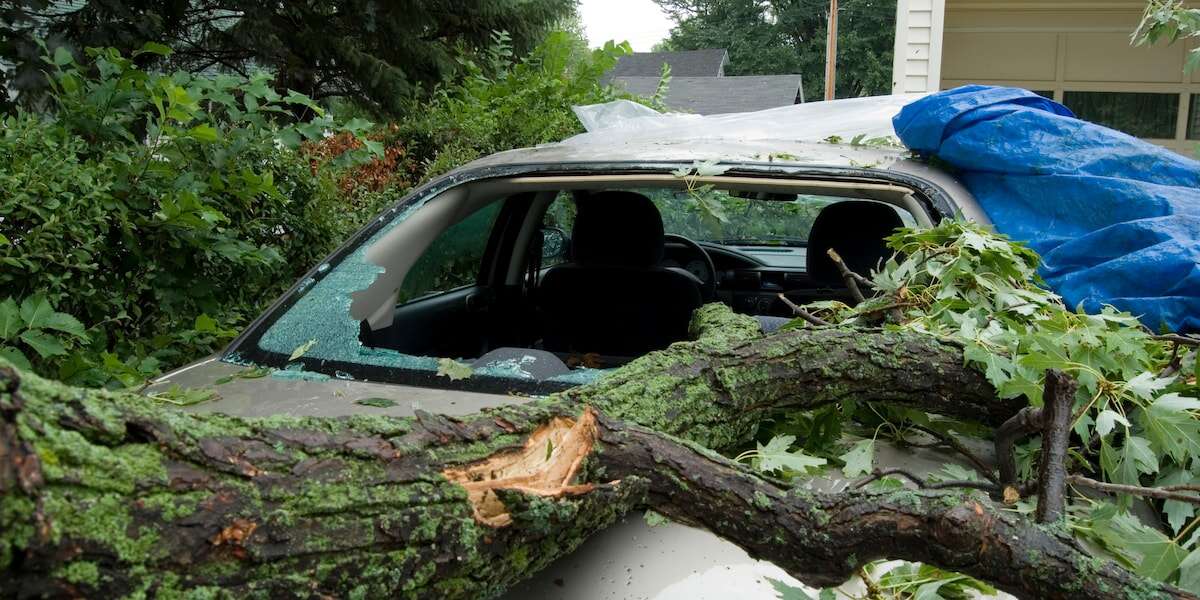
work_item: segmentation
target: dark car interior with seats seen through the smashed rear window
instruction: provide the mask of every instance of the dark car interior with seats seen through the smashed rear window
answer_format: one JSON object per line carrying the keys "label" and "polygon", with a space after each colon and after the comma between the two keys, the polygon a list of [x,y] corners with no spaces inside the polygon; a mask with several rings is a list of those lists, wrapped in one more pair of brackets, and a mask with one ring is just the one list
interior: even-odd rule
{"label": "dark car interior with seats seen through the smashed rear window", "polygon": [[617,366],[688,340],[724,302],[764,331],[796,304],[852,304],[898,227],[929,224],[889,182],[671,175],[511,178],[450,188],[367,251],[354,294],[364,346],[473,366],[522,358],[535,378]]}

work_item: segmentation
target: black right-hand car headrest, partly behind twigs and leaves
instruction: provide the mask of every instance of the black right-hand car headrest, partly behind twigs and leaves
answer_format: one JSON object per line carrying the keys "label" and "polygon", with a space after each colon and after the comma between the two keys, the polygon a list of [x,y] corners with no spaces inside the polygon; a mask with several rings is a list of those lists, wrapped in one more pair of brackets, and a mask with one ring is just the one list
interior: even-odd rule
{"label": "black right-hand car headrest, partly behind twigs and leaves", "polygon": [[904,227],[900,215],[889,204],[870,200],[844,200],[817,214],[809,233],[809,277],[827,286],[841,286],[838,265],[826,253],[838,251],[850,270],[869,276],[881,260],[892,256],[883,238]]}

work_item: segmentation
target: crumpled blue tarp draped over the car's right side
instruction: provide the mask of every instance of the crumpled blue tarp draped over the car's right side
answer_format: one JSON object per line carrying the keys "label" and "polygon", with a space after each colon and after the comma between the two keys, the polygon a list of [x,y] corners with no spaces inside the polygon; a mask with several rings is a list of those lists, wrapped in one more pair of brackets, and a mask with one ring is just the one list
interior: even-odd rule
{"label": "crumpled blue tarp draped over the car's right side", "polygon": [[1068,306],[1200,331],[1200,162],[1013,88],[925,96],[893,124],[908,148],[961,169],[996,229],[1042,254]]}

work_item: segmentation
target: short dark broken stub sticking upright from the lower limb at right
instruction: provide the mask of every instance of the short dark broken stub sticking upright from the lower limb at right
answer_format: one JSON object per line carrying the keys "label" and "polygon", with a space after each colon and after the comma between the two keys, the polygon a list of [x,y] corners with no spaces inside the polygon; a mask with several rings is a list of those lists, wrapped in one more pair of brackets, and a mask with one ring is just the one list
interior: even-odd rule
{"label": "short dark broken stub sticking upright from the lower limb at right", "polygon": [[1038,464],[1039,523],[1062,518],[1067,505],[1067,446],[1070,444],[1070,404],[1075,400],[1075,379],[1062,371],[1046,370],[1042,392],[1042,462]]}

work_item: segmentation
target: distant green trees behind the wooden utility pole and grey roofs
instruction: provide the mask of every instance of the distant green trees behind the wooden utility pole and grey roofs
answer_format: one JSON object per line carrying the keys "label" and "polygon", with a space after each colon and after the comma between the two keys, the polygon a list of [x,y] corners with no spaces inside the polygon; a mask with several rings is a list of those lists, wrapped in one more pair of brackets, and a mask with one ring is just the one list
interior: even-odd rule
{"label": "distant green trees behind the wooden utility pole and grey roofs", "polygon": [[[828,0],[654,0],[676,22],[661,47],[727,48],[726,74],[800,73],[806,97],[824,91]],[[895,0],[842,0],[838,97],[892,90]]]}

